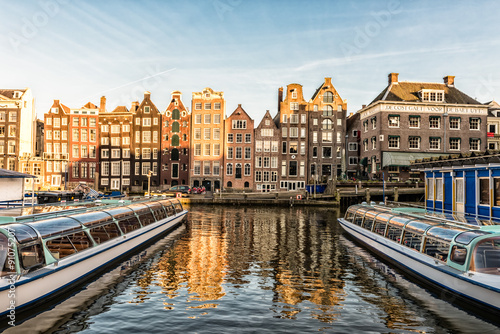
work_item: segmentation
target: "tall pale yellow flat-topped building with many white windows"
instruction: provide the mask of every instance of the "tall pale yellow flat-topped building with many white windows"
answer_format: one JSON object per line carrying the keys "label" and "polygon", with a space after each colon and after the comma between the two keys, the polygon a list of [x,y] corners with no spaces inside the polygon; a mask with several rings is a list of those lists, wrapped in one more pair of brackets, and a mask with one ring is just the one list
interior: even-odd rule
{"label": "tall pale yellow flat-topped building with many white windows", "polygon": [[191,101],[190,182],[208,191],[224,184],[224,120],[226,101],[223,92],[205,88],[194,92]]}

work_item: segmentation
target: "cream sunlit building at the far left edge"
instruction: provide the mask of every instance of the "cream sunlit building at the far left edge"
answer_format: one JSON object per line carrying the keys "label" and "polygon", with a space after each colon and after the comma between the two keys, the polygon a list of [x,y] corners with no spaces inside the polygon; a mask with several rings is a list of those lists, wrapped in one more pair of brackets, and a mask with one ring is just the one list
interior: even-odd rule
{"label": "cream sunlit building at the far left edge", "polygon": [[0,168],[21,171],[18,158],[34,156],[34,142],[31,89],[0,89]]}

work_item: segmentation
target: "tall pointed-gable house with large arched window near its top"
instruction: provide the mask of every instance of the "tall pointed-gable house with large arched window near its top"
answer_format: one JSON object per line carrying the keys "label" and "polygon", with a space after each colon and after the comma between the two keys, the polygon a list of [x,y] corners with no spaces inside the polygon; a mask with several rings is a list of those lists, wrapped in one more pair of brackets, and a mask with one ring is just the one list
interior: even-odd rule
{"label": "tall pointed-gable house with large arched window near its top", "polygon": [[309,177],[326,182],[345,173],[344,103],[331,78],[316,90],[308,105]]}

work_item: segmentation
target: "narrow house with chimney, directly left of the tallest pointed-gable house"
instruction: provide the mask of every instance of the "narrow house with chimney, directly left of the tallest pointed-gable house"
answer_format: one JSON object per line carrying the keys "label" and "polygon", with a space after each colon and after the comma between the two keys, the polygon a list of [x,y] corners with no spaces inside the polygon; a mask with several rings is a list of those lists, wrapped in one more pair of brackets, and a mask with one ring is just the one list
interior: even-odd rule
{"label": "narrow house with chimney, directly left of the tallest pointed-gable house", "polygon": [[276,125],[281,129],[280,190],[305,189],[308,156],[308,103],[302,94],[302,85],[289,84],[283,99],[283,88],[278,90]]}

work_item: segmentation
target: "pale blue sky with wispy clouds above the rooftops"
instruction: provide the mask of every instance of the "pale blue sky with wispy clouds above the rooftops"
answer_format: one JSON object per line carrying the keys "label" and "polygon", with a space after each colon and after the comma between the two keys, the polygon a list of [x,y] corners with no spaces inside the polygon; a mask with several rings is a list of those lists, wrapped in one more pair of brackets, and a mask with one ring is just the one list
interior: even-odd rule
{"label": "pale blue sky with wispy clouds above the rooftops", "polygon": [[455,85],[500,100],[498,1],[8,1],[0,28],[1,88],[30,87],[43,118],[54,99],[78,108],[130,107],[144,91],[164,110],[170,93],[224,91],[256,121],[277,90],[324,77],[349,112],[401,81]]}

